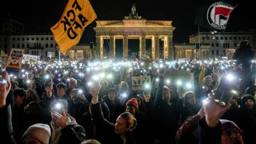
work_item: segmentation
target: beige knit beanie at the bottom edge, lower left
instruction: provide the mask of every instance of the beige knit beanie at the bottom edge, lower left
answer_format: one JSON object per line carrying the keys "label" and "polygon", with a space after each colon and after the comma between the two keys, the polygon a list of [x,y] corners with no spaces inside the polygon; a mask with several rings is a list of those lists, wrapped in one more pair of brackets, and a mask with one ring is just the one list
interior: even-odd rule
{"label": "beige knit beanie at the bottom edge, lower left", "polygon": [[22,141],[29,141],[35,139],[42,144],[49,144],[51,137],[51,129],[46,124],[34,124],[31,125],[22,136]]}

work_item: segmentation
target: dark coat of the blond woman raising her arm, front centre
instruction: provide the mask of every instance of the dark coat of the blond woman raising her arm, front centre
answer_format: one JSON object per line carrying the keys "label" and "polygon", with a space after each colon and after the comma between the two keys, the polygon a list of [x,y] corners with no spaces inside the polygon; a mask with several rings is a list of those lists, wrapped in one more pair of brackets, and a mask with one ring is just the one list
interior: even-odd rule
{"label": "dark coat of the blond woman raising her arm, front centre", "polygon": [[[124,144],[122,138],[115,133],[115,124],[110,123],[103,117],[100,102],[98,102],[97,104],[92,104],[91,111],[93,122],[96,125],[97,132],[101,134],[99,139],[100,143]],[[136,142],[133,140],[131,134],[127,134],[126,144],[134,143]]]}

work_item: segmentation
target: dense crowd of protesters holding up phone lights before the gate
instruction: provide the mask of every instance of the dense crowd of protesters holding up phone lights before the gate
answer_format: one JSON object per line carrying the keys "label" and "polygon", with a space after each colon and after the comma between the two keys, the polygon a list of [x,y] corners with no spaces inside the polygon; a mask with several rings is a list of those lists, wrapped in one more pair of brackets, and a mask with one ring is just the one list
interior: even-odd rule
{"label": "dense crowd of protesters holding up phone lights before the gate", "polygon": [[[143,65],[40,61],[17,75],[3,70],[0,143],[255,143],[254,61],[250,70],[215,59]],[[191,72],[193,91],[166,83],[168,70]],[[132,76],[152,82],[132,90]],[[223,106],[216,90],[225,85],[232,98]]]}

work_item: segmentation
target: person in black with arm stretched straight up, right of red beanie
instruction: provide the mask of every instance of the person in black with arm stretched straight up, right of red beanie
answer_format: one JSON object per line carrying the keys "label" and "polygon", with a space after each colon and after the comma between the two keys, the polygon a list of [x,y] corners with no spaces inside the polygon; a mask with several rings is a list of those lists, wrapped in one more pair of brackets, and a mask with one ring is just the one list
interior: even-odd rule
{"label": "person in black with arm stretched straight up, right of red beanie", "polygon": [[[158,143],[175,143],[175,134],[179,129],[179,102],[173,103],[170,88],[164,86],[165,66],[159,66],[157,94],[154,101],[154,131]],[[182,106],[182,105],[180,105]]]}

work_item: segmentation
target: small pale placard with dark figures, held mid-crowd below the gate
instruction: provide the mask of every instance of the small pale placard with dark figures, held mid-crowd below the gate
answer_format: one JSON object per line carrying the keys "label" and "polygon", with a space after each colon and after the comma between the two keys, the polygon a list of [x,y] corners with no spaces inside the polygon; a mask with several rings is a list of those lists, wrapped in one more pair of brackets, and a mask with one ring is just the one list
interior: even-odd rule
{"label": "small pale placard with dark figures, held mid-crowd below the gate", "polygon": [[151,84],[150,76],[132,77],[132,90],[143,90],[146,83]]}

